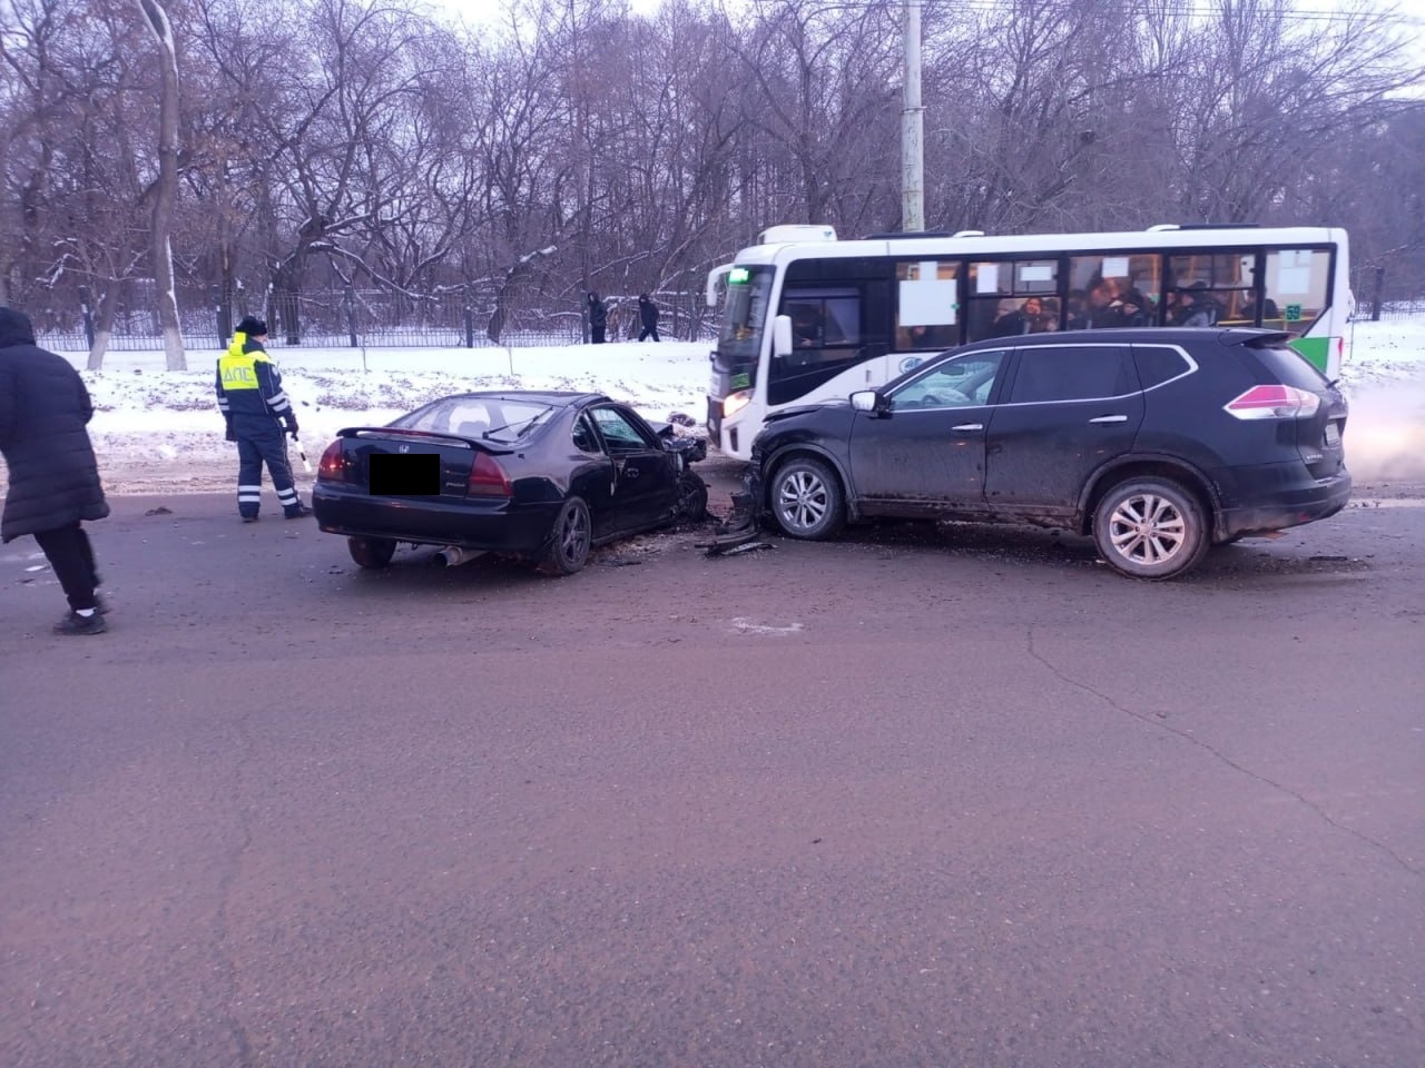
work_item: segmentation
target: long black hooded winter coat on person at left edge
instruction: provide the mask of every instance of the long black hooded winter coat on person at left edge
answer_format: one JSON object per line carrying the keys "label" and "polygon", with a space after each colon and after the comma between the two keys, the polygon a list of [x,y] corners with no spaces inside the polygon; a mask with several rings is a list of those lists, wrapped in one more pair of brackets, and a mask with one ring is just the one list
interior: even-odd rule
{"label": "long black hooded winter coat on person at left edge", "polygon": [[0,541],[108,515],[88,390],[63,356],[34,343],[30,318],[0,308],[0,454],[10,468]]}

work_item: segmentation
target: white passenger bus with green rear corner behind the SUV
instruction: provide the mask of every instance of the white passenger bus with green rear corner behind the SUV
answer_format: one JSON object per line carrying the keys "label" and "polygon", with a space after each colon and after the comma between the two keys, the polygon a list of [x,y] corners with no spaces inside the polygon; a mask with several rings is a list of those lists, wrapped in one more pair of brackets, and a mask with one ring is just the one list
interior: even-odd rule
{"label": "white passenger bus with green rear corner behind the SUV", "polygon": [[1345,356],[1347,235],[1153,226],[986,236],[775,226],[708,275],[722,313],[708,436],[747,460],[768,413],[878,387],[926,355],[1037,330],[1264,326],[1327,377]]}

